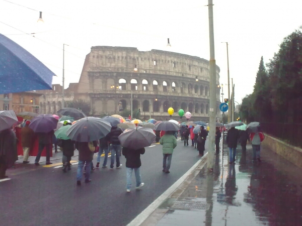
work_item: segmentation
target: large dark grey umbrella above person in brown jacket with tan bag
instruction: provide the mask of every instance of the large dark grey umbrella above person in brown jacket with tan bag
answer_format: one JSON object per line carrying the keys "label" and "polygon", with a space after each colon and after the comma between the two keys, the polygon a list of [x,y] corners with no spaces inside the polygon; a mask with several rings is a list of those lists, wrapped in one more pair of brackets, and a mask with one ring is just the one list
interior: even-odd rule
{"label": "large dark grey umbrella above person in brown jacket with tan bag", "polygon": [[67,137],[73,141],[97,141],[111,130],[110,123],[95,117],[86,117],[74,123],[66,132]]}

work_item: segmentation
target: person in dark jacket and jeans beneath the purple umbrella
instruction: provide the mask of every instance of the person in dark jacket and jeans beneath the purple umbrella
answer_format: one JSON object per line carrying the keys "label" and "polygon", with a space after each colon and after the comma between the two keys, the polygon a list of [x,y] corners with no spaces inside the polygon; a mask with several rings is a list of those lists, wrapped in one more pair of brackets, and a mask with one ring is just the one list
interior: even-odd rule
{"label": "person in dark jacket and jeans beneath the purple umbrella", "polygon": [[39,136],[39,151],[35,159],[35,165],[36,166],[40,165],[39,161],[44,148],[46,149],[46,165],[50,165],[52,164],[50,162],[50,151],[51,151],[50,147],[52,147],[52,136],[54,134],[54,131],[52,130],[48,133],[37,133],[37,134]]}

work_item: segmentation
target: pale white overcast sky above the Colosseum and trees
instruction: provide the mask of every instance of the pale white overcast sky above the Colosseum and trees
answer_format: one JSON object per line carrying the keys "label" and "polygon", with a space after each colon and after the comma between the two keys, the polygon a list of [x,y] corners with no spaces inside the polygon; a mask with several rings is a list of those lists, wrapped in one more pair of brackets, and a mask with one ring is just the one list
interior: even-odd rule
{"label": "pale white overcast sky above the Colosseum and trees", "polygon": [[[91,46],[136,47],[209,59],[207,0],[0,0],[0,33],[27,49],[62,80],[78,82]],[[215,59],[228,82],[226,44],[235,100],[253,91],[261,56],[267,63],[301,23],[301,0],[213,0]],[[35,11],[36,10],[36,11]],[[44,24],[38,24],[39,11]],[[9,27],[5,24],[12,26]],[[16,30],[19,29],[20,31]],[[36,33],[34,37],[24,33]],[[172,48],[167,49],[167,38]]]}

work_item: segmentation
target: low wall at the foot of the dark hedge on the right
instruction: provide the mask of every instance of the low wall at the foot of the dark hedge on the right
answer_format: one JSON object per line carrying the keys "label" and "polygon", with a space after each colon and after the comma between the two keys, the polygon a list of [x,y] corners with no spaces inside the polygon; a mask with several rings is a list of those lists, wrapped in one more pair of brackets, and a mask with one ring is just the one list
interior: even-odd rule
{"label": "low wall at the foot of the dark hedge on the right", "polygon": [[272,150],[286,160],[302,168],[302,149],[286,144],[276,138],[265,134],[265,139],[262,145]]}

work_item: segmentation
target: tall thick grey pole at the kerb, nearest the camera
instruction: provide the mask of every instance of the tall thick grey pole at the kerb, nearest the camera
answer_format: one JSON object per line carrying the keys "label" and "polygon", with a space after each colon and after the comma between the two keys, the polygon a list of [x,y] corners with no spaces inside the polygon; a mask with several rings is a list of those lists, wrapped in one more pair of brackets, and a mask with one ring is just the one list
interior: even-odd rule
{"label": "tall thick grey pole at the kerb, nearest the camera", "polygon": [[214,23],[213,23],[213,0],[208,0],[209,14],[209,41],[210,41],[210,112],[209,112],[209,145],[207,168],[212,171],[214,168],[214,149],[215,149],[215,127],[216,127],[216,62],[214,48]]}

